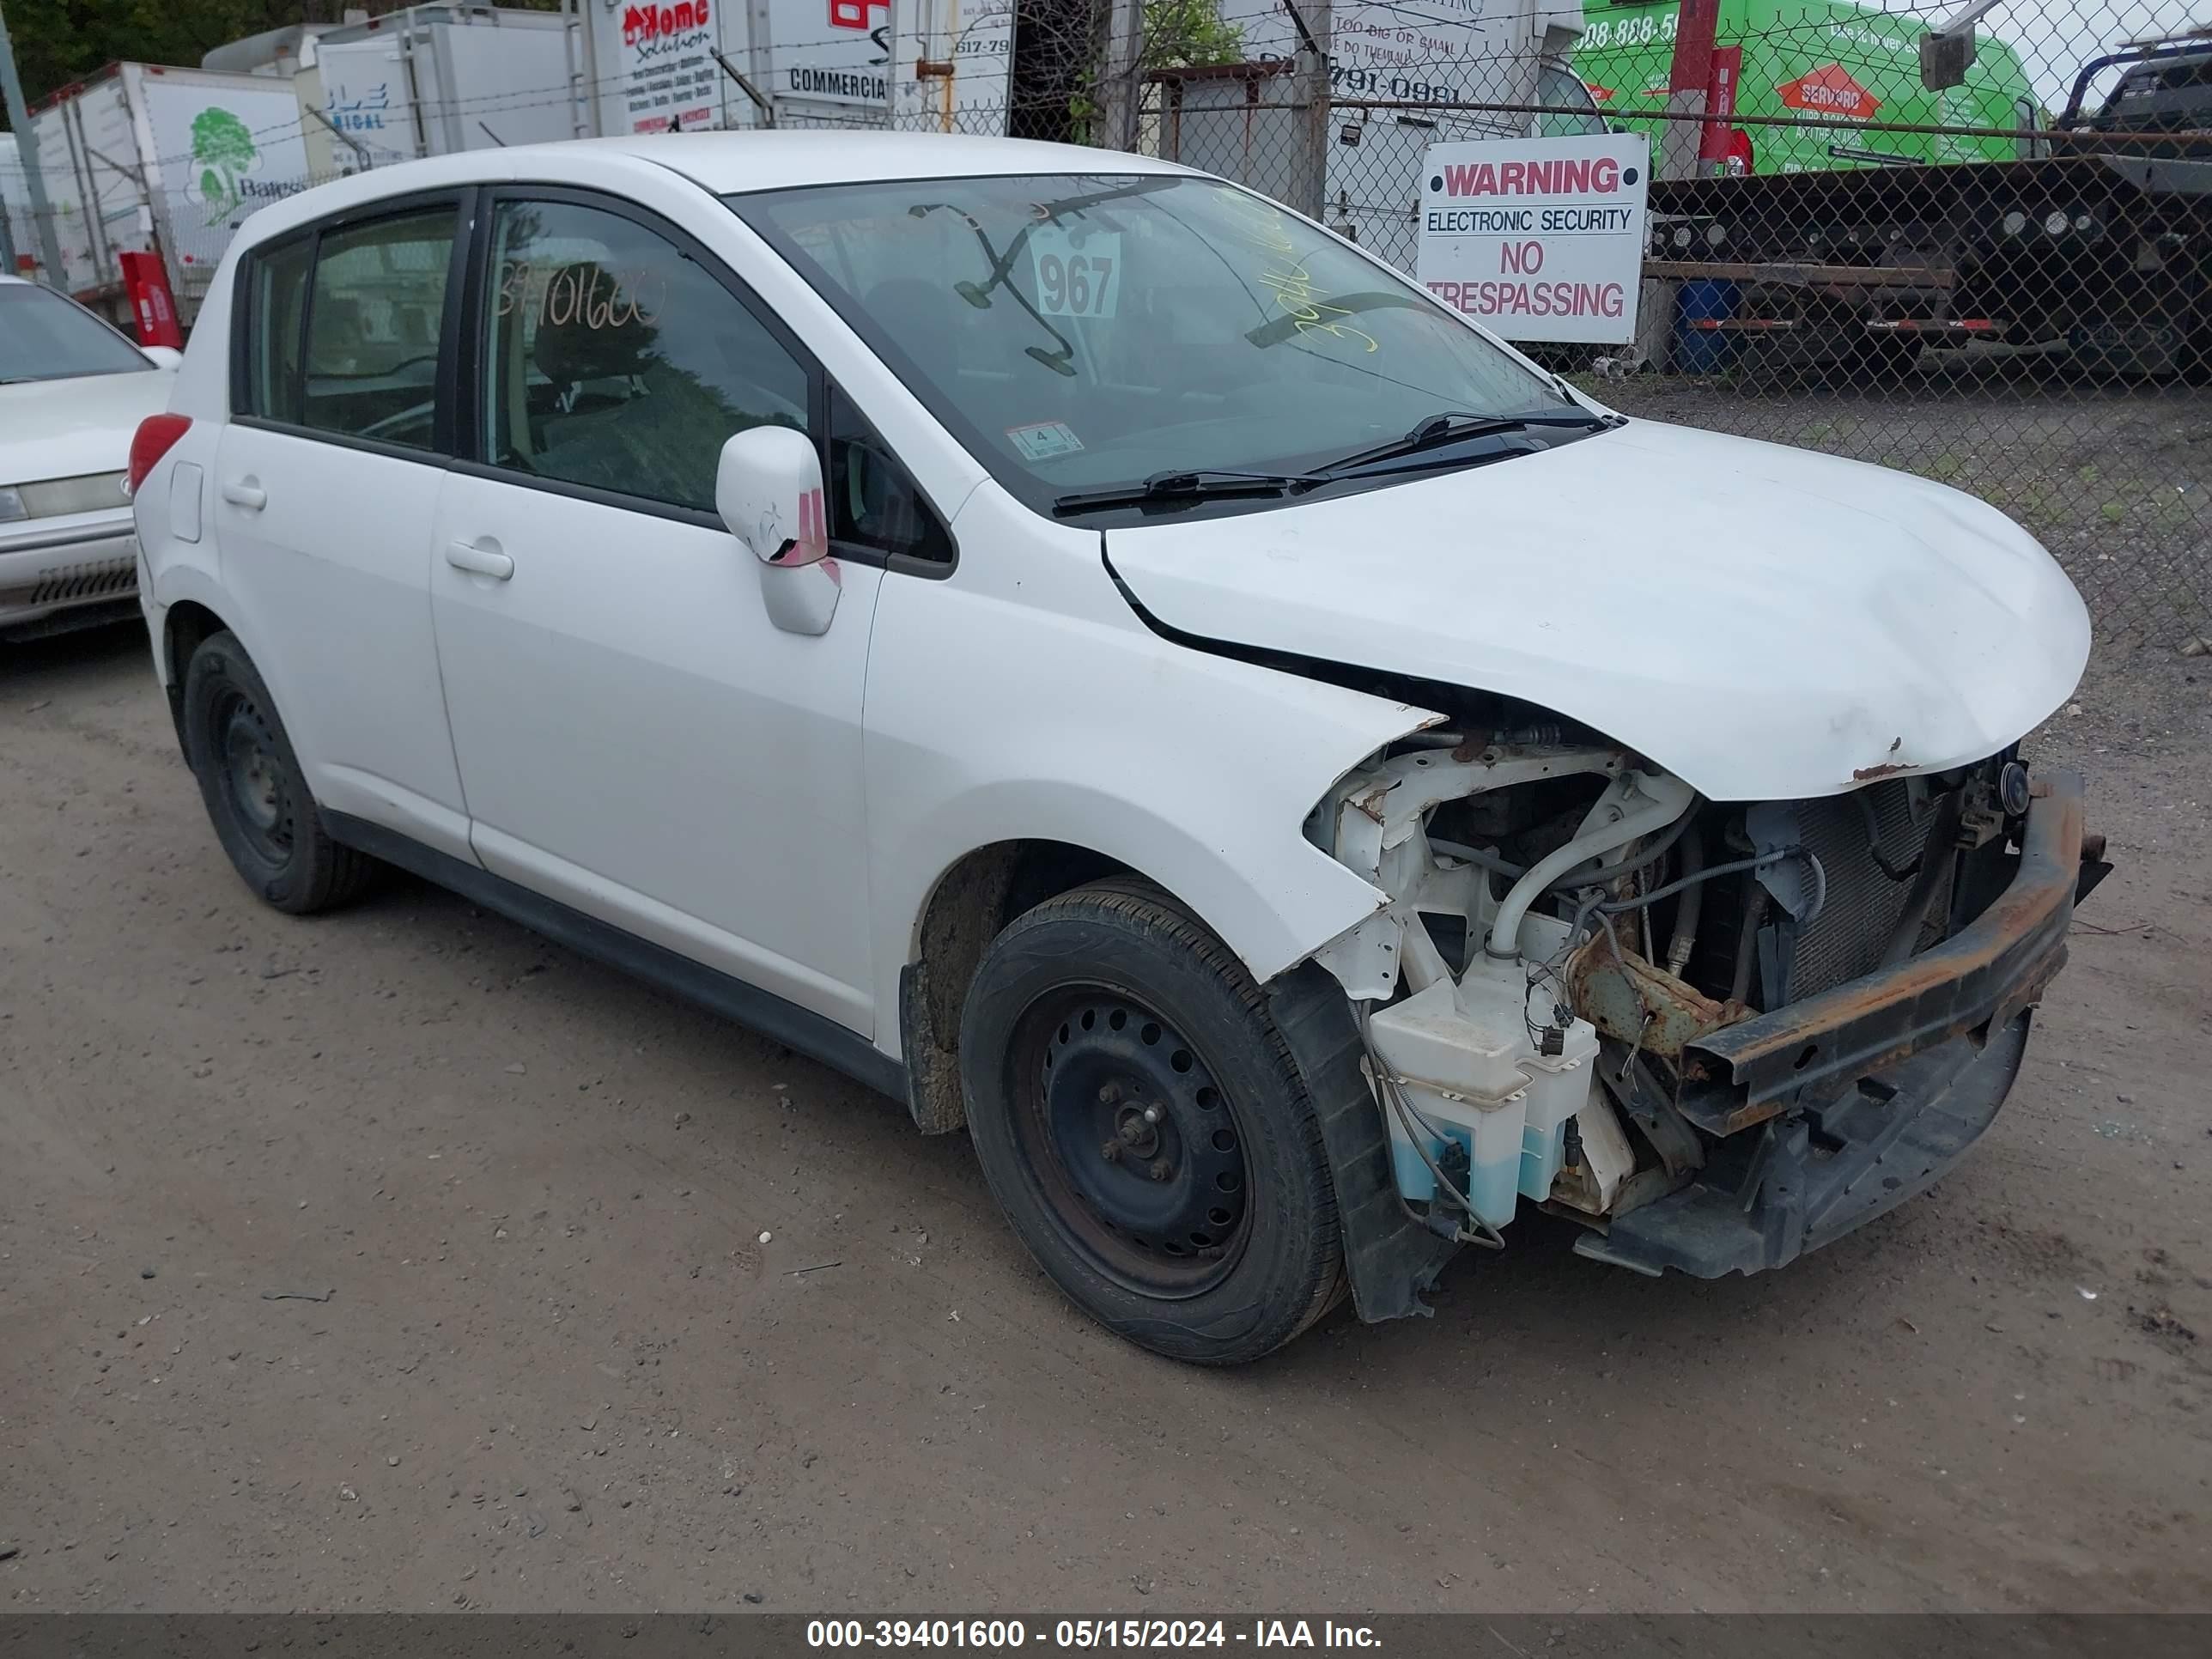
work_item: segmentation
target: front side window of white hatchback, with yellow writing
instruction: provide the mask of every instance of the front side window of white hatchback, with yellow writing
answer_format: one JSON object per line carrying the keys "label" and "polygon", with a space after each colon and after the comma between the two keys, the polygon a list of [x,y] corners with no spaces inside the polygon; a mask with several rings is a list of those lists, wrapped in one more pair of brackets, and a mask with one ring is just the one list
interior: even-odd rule
{"label": "front side window of white hatchback, with yellow writing", "polygon": [[807,429],[807,369],[633,219],[500,204],[491,283],[482,398],[498,467],[712,511],[732,431]]}

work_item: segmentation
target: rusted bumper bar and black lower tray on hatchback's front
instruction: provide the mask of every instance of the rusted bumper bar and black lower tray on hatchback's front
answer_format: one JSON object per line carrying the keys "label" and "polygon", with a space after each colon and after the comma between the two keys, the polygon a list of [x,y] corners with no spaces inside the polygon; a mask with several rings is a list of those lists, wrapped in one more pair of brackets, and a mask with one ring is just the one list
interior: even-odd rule
{"label": "rusted bumper bar and black lower tray on hatchback's front", "polygon": [[[2104,874],[2104,865],[2095,867]],[[1995,1121],[2084,889],[2081,779],[2037,779],[2013,883],[1931,951],[1688,1046],[1745,1104],[1699,1177],[1575,1243],[1639,1272],[1781,1267],[1933,1186]]]}

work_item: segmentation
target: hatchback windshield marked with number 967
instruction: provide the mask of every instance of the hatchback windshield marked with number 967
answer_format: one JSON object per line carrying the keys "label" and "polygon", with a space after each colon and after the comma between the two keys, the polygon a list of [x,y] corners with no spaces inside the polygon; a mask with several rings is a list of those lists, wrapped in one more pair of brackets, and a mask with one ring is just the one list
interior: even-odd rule
{"label": "hatchback windshield marked with number 967", "polygon": [[1181,175],[847,184],[730,206],[1015,495],[1294,473],[1438,411],[1575,409],[1396,272]]}

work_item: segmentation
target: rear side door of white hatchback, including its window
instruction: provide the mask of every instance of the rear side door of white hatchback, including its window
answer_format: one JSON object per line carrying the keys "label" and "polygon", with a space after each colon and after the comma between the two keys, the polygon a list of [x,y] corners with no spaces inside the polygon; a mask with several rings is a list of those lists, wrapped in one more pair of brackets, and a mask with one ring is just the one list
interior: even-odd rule
{"label": "rear side door of white hatchback, including its window", "polygon": [[215,533],[316,801],[469,856],[429,615],[473,192],[383,201],[241,270]]}

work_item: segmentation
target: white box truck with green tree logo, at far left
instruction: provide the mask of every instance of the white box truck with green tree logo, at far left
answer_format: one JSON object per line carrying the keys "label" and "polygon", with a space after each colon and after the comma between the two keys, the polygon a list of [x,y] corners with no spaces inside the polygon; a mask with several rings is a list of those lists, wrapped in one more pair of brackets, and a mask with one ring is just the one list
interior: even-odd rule
{"label": "white box truck with green tree logo, at far left", "polygon": [[[33,106],[31,122],[58,285],[124,325],[122,254],[159,254],[190,323],[230,234],[310,181],[292,84],[268,75],[111,64]],[[18,243],[18,254],[35,250],[35,239]]]}

